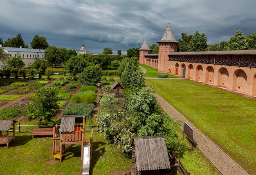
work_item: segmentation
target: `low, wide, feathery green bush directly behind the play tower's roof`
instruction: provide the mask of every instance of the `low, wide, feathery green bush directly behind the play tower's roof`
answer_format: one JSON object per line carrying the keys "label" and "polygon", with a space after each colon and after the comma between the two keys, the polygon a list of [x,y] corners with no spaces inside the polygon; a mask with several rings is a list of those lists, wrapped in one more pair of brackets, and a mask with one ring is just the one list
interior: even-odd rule
{"label": "low, wide, feathery green bush directly behind the play tower's roof", "polygon": [[89,118],[93,110],[94,104],[70,103],[65,108],[65,115],[85,115]]}

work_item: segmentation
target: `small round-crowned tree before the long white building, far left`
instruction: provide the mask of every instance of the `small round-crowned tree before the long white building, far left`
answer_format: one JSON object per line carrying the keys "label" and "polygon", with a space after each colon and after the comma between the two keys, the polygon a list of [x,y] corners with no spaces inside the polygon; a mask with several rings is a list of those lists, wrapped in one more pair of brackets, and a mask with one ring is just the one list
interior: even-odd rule
{"label": "small round-crowned tree before the long white building, far left", "polygon": [[18,79],[18,71],[25,67],[25,63],[22,58],[17,54],[17,56],[8,57],[6,60],[6,66],[11,68],[11,72],[15,74],[15,79]]}

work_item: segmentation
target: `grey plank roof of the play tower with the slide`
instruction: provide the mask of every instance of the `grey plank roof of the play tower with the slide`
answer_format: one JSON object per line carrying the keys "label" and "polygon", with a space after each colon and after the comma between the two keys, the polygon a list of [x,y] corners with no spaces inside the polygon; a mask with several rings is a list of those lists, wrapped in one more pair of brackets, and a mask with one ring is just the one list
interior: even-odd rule
{"label": "grey plank roof of the play tower with the slide", "polygon": [[64,115],[61,118],[61,126],[59,131],[60,132],[67,132],[67,131],[73,131],[75,126],[75,115]]}

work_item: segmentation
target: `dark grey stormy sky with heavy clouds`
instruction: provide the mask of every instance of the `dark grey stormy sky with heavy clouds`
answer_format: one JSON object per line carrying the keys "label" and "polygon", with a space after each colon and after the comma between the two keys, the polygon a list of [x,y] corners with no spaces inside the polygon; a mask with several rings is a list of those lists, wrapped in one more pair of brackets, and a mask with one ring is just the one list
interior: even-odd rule
{"label": "dark grey stormy sky with heavy clouds", "polygon": [[181,33],[206,34],[208,44],[229,40],[238,29],[256,31],[256,0],[1,0],[0,38],[21,34],[25,44],[35,35],[49,45],[85,49],[92,54],[111,48],[148,46],[159,41],[170,22]]}

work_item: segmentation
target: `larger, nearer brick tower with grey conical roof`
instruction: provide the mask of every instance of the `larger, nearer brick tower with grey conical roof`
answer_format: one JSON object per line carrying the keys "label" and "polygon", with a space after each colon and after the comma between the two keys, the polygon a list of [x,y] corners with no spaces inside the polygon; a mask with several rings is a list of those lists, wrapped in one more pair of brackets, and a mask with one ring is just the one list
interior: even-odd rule
{"label": "larger, nearer brick tower with grey conical roof", "polygon": [[171,52],[178,52],[178,42],[171,30],[170,23],[166,27],[164,35],[161,40],[157,42],[159,44],[158,52],[158,72],[168,73],[169,57],[168,54]]}

